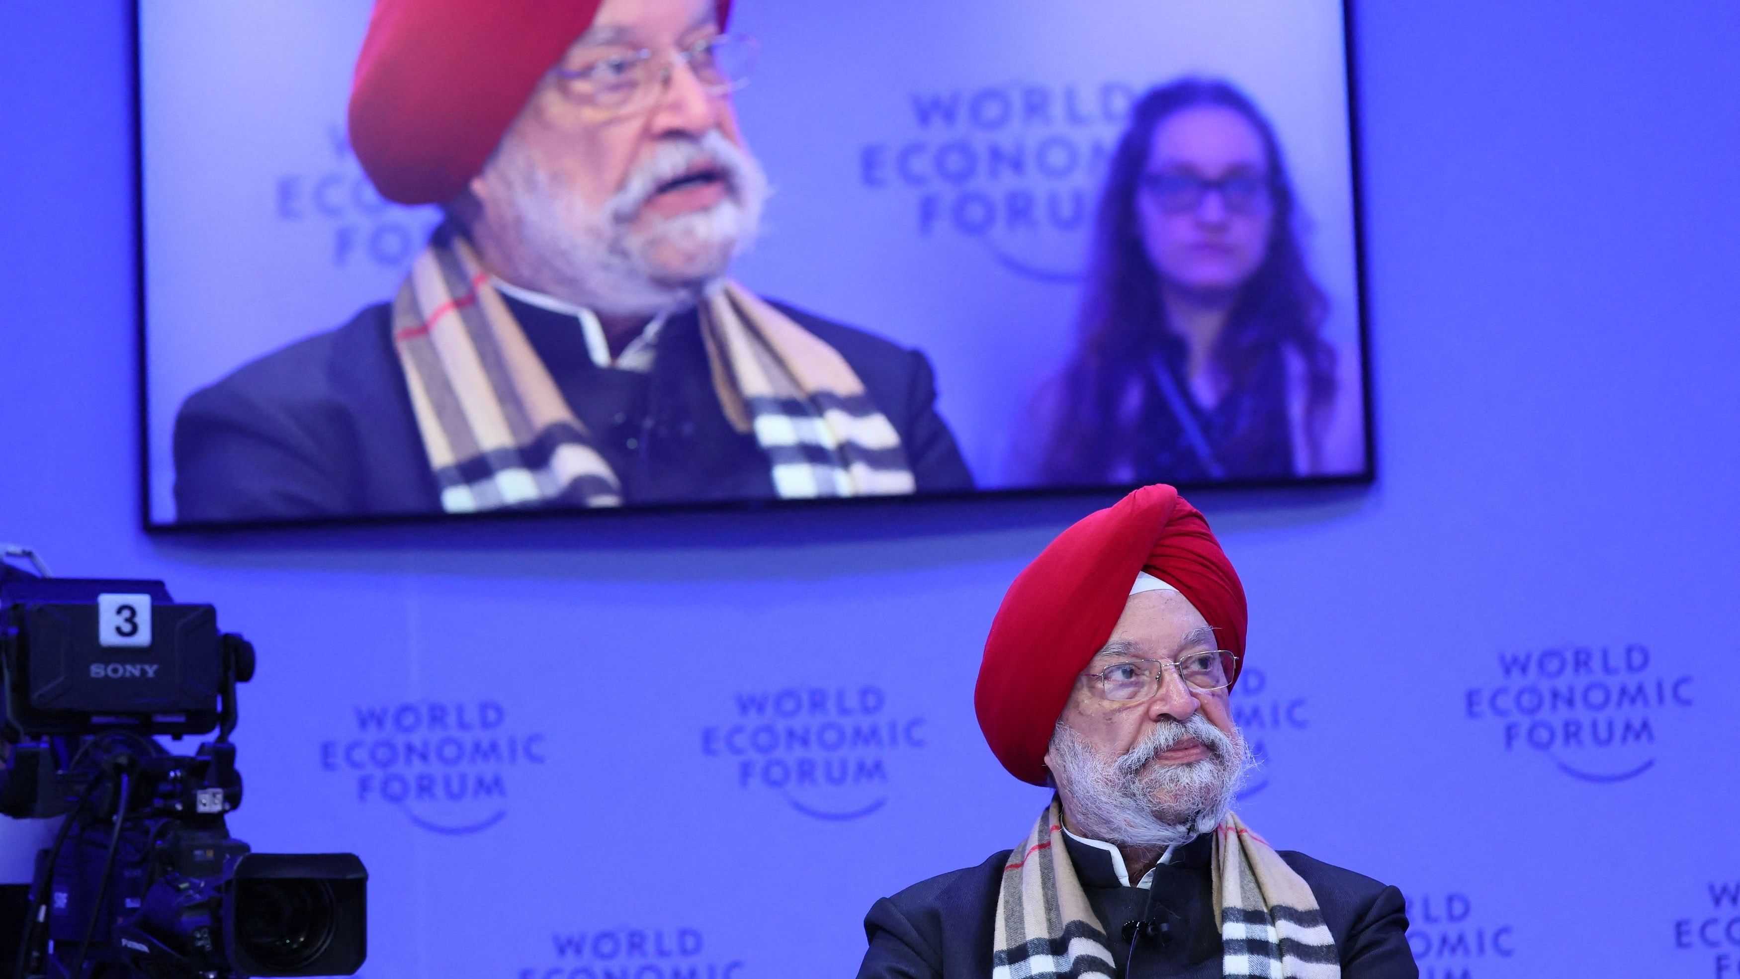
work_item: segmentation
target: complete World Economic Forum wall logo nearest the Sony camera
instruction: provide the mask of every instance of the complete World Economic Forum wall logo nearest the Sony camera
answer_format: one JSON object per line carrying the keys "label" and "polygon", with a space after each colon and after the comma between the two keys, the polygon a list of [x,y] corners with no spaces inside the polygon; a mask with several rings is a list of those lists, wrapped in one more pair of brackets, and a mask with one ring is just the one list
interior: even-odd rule
{"label": "complete World Economic Forum wall logo nearest the Sony camera", "polygon": [[355,704],[346,729],[320,743],[320,769],[345,779],[357,805],[449,836],[506,819],[513,784],[550,756],[543,732],[489,699]]}

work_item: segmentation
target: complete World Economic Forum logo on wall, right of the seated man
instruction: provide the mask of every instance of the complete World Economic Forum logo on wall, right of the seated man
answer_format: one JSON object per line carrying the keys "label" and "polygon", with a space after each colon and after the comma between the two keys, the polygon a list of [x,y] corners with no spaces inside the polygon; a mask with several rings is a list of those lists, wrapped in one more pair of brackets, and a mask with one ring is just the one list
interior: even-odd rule
{"label": "complete World Economic Forum logo on wall, right of the seated man", "polygon": [[1585,783],[1655,767],[1672,716],[1693,706],[1691,676],[1643,643],[1500,652],[1496,683],[1463,692],[1463,716],[1507,753],[1535,755]]}

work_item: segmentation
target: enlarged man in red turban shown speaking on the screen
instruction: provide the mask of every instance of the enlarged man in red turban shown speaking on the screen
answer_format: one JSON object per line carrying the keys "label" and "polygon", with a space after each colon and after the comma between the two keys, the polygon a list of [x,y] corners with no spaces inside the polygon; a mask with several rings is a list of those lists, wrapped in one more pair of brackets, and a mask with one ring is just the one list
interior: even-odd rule
{"label": "enlarged man in red turban shown speaking on the screen", "polygon": [[392,303],[183,405],[183,522],[969,489],[926,358],[727,275],[731,0],[378,0],[350,137],[445,221]]}

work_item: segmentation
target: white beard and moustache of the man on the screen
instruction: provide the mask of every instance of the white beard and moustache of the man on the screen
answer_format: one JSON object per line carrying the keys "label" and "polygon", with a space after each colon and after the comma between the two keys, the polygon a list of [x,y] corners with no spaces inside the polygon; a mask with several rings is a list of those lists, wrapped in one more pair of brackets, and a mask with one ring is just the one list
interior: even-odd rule
{"label": "white beard and moustache of the man on the screen", "polygon": [[[726,174],[726,196],[633,228],[658,188],[698,162]],[[506,188],[499,221],[513,242],[515,285],[604,315],[652,316],[693,304],[755,240],[767,200],[760,163],[717,129],[659,143],[602,207],[588,205],[512,139],[489,165]]]}

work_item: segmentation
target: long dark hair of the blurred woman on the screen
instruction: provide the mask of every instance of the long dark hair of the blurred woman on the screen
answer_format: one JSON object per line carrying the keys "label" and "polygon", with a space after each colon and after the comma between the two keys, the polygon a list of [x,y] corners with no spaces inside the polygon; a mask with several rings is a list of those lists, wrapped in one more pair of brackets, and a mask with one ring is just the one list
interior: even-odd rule
{"label": "long dark hair of the blurred woman on the screen", "polygon": [[[1147,482],[1133,457],[1152,443],[1154,419],[1176,426],[1154,379],[1155,355],[1183,379],[1185,344],[1168,329],[1161,283],[1141,240],[1136,193],[1148,165],[1154,130],[1168,117],[1195,106],[1239,113],[1258,132],[1268,157],[1270,226],[1263,261],[1239,287],[1213,351],[1215,367],[1239,398],[1230,428],[1215,445],[1227,476],[1293,475],[1303,461],[1288,443],[1286,350],[1305,363],[1307,435],[1314,436],[1335,402],[1335,350],[1319,336],[1328,301],[1305,270],[1295,230],[1293,184],[1274,129],[1239,89],[1215,78],[1181,78],[1148,90],[1107,165],[1094,214],[1088,287],[1079,341],[1053,391],[1049,433],[1039,464],[1042,482]],[[1180,384],[1183,388],[1183,384]],[[1187,388],[1183,388],[1187,390]],[[1155,412],[1161,412],[1159,416]],[[1315,450],[1315,445],[1310,445]],[[1286,471],[1274,459],[1291,461]]]}

